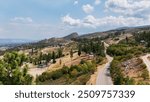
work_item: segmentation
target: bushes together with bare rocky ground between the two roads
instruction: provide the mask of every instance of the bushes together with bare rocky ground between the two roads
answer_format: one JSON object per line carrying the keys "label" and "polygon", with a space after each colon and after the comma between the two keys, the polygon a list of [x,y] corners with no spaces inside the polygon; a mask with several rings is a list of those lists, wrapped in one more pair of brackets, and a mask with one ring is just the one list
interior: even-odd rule
{"label": "bushes together with bare rocky ground between the two roads", "polygon": [[111,45],[107,53],[114,57],[110,73],[115,85],[149,84],[149,73],[139,58],[146,48],[135,40],[135,36]]}

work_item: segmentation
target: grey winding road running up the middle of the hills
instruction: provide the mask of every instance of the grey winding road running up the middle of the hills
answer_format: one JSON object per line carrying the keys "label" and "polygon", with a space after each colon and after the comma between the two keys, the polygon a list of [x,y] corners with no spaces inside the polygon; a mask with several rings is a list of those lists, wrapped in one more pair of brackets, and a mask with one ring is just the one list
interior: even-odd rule
{"label": "grey winding road running up the middle of the hills", "polygon": [[[105,49],[107,49],[107,47],[109,46],[105,42],[104,42],[104,45],[105,45]],[[98,67],[99,70],[98,70],[98,76],[96,79],[96,85],[113,85],[113,82],[110,76],[110,70],[109,70],[113,57],[110,57],[109,55],[106,54],[106,58],[108,62],[105,65]]]}

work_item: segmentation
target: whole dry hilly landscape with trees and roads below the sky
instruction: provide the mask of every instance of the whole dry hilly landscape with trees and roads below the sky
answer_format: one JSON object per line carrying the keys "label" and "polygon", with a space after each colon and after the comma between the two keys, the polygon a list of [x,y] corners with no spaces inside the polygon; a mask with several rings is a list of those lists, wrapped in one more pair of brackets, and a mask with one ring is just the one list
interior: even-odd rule
{"label": "whole dry hilly landscape with trees and roads below the sky", "polygon": [[1,50],[0,84],[149,85],[150,30],[72,33]]}

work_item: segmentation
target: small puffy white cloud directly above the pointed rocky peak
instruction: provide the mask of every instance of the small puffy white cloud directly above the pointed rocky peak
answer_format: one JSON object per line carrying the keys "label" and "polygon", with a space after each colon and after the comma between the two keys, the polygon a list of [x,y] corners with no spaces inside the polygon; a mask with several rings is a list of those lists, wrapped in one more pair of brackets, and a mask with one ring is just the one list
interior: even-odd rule
{"label": "small puffy white cloud directly above the pointed rocky peak", "polygon": [[70,17],[70,15],[66,15],[62,18],[63,23],[65,24],[69,24],[71,26],[79,26],[81,21],[80,19],[74,19],[72,17]]}

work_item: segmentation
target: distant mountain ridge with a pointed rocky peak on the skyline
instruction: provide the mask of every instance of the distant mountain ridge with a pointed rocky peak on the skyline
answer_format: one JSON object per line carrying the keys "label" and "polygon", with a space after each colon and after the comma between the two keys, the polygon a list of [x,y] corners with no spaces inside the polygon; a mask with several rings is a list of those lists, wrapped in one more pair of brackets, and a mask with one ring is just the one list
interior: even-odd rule
{"label": "distant mountain ridge with a pointed rocky peak on the skyline", "polygon": [[[109,34],[115,34],[116,32],[126,32],[126,33],[133,33],[133,32],[138,32],[141,30],[147,30],[150,29],[150,26],[138,26],[138,27],[120,27],[120,28],[116,28],[116,29],[112,29],[112,30],[108,30],[108,31],[104,31],[104,32],[94,32],[94,33],[88,33],[88,34],[83,34],[83,35],[79,35],[78,33],[74,32],[71,33],[67,36],[64,36],[62,38],[49,38],[49,39],[44,39],[41,40],[37,43],[34,44],[44,44],[44,45],[64,45],[66,43],[68,43],[70,40],[72,40],[73,38],[95,38],[95,37],[105,37]],[[117,33],[116,33],[117,34]]]}

